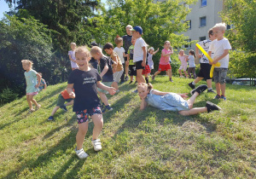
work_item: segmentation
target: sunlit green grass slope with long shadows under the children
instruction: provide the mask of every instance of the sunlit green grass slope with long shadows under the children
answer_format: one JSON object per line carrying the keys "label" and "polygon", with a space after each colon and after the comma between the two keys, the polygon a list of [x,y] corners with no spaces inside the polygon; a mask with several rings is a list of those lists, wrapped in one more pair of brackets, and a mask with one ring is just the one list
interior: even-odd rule
{"label": "sunlit green grass slope with long shadows under the children", "polygon": [[[190,79],[157,77],[154,88],[189,92]],[[203,84],[205,82],[201,82]],[[0,178],[255,178],[256,88],[227,84],[227,101],[203,93],[195,107],[218,103],[221,112],[183,117],[154,107],[139,111],[135,85],[108,95],[113,112],[103,114],[102,152],[94,152],[90,122],[84,140],[88,159],[74,153],[78,124],[72,107],[47,118],[67,83],[49,86],[28,114],[26,97],[0,108]],[[213,85],[214,86],[214,85]]]}

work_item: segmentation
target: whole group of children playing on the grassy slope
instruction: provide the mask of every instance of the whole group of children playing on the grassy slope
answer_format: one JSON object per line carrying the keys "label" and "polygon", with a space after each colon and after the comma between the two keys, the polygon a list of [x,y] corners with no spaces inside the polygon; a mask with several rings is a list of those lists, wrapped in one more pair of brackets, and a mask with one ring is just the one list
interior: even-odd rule
{"label": "whole group of children playing on the grassy slope", "polygon": [[[106,94],[114,95],[115,93],[119,92],[119,81],[122,78],[122,75],[124,75],[125,78],[127,77],[127,69],[130,69],[130,75],[132,77],[131,82],[133,81],[133,76],[137,77],[137,91],[142,100],[140,105],[141,110],[147,107],[148,104],[153,107],[157,107],[160,110],[176,111],[185,116],[220,110],[220,107],[210,101],[207,101],[206,107],[193,108],[195,98],[198,95],[201,95],[201,93],[205,90],[208,90],[208,92],[211,92],[212,90],[212,87],[210,88],[209,85],[205,84],[200,85],[195,89],[195,84],[202,78],[207,78],[207,80],[210,79],[208,78],[210,72],[209,61],[207,61],[207,58],[204,55],[198,54],[198,49],[196,49],[195,52],[196,55],[201,56],[201,72],[199,73],[198,77],[195,78],[195,72],[193,69],[191,69],[191,72],[194,72],[195,81],[189,84],[189,86],[193,89],[190,92],[192,96],[188,101],[186,101],[185,99],[188,98],[187,94],[161,92],[159,90],[154,90],[153,85],[148,83],[147,75],[150,72],[150,66],[152,67],[152,61],[148,61],[149,65],[147,64],[147,43],[145,43],[142,38],[143,29],[141,26],[135,26],[133,28],[131,26],[126,26],[127,33],[130,32],[129,29],[132,32],[132,37],[130,37],[132,45],[129,46],[129,44],[126,42],[130,42],[130,40],[127,40],[130,39],[129,37],[124,38],[125,49],[122,48],[123,40],[119,37],[115,39],[115,43],[117,44],[116,48],[113,48],[112,43],[106,43],[104,45],[103,49],[108,55],[110,55],[110,57],[103,55],[102,49],[98,46],[91,47],[90,51],[86,47],[80,46],[78,48],[74,48],[73,52],[68,53],[70,58],[74,60],[71,61],[75,62],[77,66],[73,66],[73,72],[71,72],[68,78],[67,90],[62,91],[61,95],[59,95],[57,106],[54,108],[49,120],[53,119],[52,116],[58,108],[61,107],[62,109],[67,110],[66,106],[73,104],[73,112],[76,113],[79,124],[79,131],[76,136],[77,147],[75,149],[75,153],[79,159],[85,159],[88,157],[88,154],[84,152],[83,142],[84,136],[88,130],[89,116],[92,118],[94,123],[91,140],[92,145],[95,151],[102,150],[102,144],[99,139],[103,126],[102,113],[113,110],[112,107],[109,106]],[[217,95],[215,97],[216,99],[225,99],[222,96],[224,96],[225,75],[229,63],[228,52],[230,49],[230,43],[226,38],[223,37],[223,35],[224,24],[217,24],[212,28],[212,30],[209,31],[209,38],[212,41],[207,41],[207,43],[204,43],[205,45],[211,43],[208,51],[210,55],[212,55],[214,52],[214,55],[212,56],[213,64],[217,62],[221,63],[221,66],[216,68],[213,74],[217,90]],[[213,38],[217,39],[213,40]],[[161,53],[160,67],[158,71],[154,73],[152,78],[154,79],[154,77],[161,71],[167,71],[169,79],[172,81],[172,67],[170,66],[169,62],[171,61],[170,56],[173,54],[171,43],[166,41],[164,43],[164,47],[165,48]],[[152,60],[152,55],[157,53],[158,50],[154,51],[154,49],[151,48],[148,49],[148,51],[148,59]],[[190,61],[193,58],[184,55],[183,51],[181,51],[179,55],[181,57],[179,59],[182,61],[180,70],[184,70],[186,64],[183,61]],[[189,55],[193,55],[195,57],[195,53],[192,51],[189,52]],[[100,73],[95,67],[92,67],[90,64],[91,60],[99,65]],[[193,62],[189,63],[189,65],[190,64],[191,66],[189,67],[195,68]],[[39,82],[41,80],[41,76],[32,70],[31,61],[23,60],[22,66],[24,70],[26,70],[26,96],[29,107],[32,109],[31,106],[33,102],[36,107],[39,108],[40,105],[37,103],[37,101],[32,99],[32,96],[37,94],[37,90],[35,89],[37,89],[39,86],[37,81]],[[128,68],[126,66],[128,66]],[[147,84],[145,83],[143,75],[145,75]],[[185,75],[187,77],[186,73]],[[220,95],[220,90],[222,91],[222,95]],[[102,104],[98,95],[102,101]],[[64,105],[65,101],[67,101],[66,105]]]}

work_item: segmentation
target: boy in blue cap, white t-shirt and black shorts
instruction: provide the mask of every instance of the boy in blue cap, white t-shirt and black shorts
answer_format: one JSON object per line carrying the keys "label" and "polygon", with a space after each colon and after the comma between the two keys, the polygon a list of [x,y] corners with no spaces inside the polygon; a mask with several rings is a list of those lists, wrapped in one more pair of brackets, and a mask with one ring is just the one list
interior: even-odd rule
{"label": "boy in blue cap, white t-shirt and black shorts", "polygon": [[137,69],[137,82],[145,83],[145,79],[143,78],[143,69],[146,66],[147,43],[145,43],[142,38],[143,28],[141,26],[135,26],[131,31],[132,37],[137,39],[134,44],[133,51],[133,62]]}

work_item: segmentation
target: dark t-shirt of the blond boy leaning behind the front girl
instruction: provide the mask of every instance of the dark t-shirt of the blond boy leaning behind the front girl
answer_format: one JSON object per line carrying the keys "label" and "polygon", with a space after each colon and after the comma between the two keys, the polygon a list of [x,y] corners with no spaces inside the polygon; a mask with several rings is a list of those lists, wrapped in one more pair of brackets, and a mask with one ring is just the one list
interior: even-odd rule
{"label": "dark t-shirt of the blond boy leaning behind the front girl", "polygon": [[100,60],[100,68],[101,72],[103,71],[105,66],[108,66],[108,71],[102,77],[102,82],[113,82],[113,71],[112,71],[113,61],[108,56],[102,56]]}

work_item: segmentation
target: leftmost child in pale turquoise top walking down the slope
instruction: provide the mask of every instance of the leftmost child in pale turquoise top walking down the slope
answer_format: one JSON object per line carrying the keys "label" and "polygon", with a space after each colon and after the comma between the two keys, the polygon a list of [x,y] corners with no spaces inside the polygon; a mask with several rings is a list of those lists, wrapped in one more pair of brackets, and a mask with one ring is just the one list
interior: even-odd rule
{"label": "leftmost child in pale turquoise top walking down the slope", "polygon": [[32,61],[22,60],[22,67],[26,72],[24,72],[26,78],[26,101],[29,107],[29,113],[34,112],[35,110],[32,107],[32,103],[36,106],[36,109],[39,109],[41,105],[38,104],[36,100],[33,99],[34,95],[38,95],[38,87],[40,85],[41,76],[38,72],[32,70]]}

